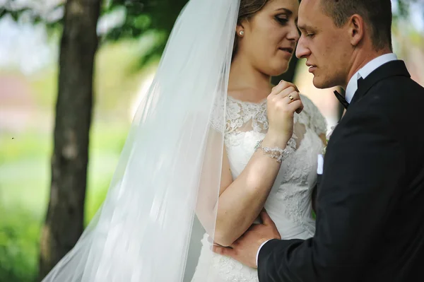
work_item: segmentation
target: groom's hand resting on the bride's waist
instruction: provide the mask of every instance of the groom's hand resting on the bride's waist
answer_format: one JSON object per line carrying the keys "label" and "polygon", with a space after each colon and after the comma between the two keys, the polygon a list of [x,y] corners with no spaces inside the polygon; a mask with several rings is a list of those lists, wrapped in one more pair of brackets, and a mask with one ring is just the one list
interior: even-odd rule
{"label": "groom's hand resting on the bride's waist", "polygon": [[213,252],[223,254],[250,267],[257,268],[257,252],[262,243],[281,239],[280,233],[266,211],[261,212],[262,224],[252,225],[230,247],[213,246]]}

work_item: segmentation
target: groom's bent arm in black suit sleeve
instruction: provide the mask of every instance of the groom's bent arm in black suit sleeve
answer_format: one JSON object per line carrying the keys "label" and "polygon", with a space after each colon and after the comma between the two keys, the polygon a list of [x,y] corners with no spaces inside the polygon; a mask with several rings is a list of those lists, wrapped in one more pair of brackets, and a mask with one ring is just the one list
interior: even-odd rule
{"label": "groom's bent arm in black suit sleeve", "polygon": [[387,119],[355,109],[331,136],[309,240],[271,240],[259,252],[259,281],[360,281],[394,211],[404,152]]}

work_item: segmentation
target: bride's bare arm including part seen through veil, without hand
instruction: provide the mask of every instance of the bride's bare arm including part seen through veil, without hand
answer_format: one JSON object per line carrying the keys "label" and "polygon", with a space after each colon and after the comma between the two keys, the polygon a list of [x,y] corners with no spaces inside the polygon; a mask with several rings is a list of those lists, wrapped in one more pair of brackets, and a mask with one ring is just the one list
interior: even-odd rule
{"label": "bride's bare arm including part seen through veil, without hand", "polygon": [[[262,141],[262,146],[285,148],[284,141],[269,135]],[[222,134],[211,129],[201,173],[196,215],[206,232],[214,234],[216,243],[228,246],[245,233],[259,215],[281,164],[258,150],[252,155],[245,170],[233,181],[227,152],[223,147]],[[221,150],[222,155],[216,155]],[[220,175],[216,173],[218,165]]]}

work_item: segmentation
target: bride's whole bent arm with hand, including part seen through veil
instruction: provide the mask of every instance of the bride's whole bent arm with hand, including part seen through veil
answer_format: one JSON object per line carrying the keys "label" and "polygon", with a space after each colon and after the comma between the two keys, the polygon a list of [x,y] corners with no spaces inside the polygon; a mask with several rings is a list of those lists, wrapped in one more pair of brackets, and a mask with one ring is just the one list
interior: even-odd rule
{"label": "bride's whole bent arm with hand, including part seen through veil", "polygon": [[[293,83],[281,81],[278,86],[275,86],[268,96],[269,129],[262,141],[262,147],[285,149],[293,134],[293,115],[295,112],[301,112],[302,109],[298,89]],[[232,181],[227,153],[225,148],[222,148],[222,135],[212,134],[208,139],[208,153],[204,160],[206,165],[202,169],[196,213],[206,231],[209,234],[213,233],[213,240],[219,245],[229,246],[245,233],[259,216],[276,180],[281,163],[259,149],[252,155],[237,179]],[[218,144],[220,148],[217,147]],[[221,165],[220,183],[216,183],[219,175],[214,176],[209,172],[216,171],[216,166],[214,167],[213,164],[216,165],[217,161],[213,158],[217,157],[210,152],[221,150],[223,155],[219,157],[223,158],[222,165],[219,163]],[[219,195],[216,194],[218,185]],[[218,202],[217,196],[219,196]]]}

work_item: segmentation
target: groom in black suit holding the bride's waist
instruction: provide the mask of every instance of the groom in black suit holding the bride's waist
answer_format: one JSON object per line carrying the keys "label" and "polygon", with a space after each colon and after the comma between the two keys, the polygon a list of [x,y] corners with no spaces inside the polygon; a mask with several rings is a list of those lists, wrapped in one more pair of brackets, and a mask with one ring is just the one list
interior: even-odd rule
{"label": "groom in black suit holding the bride's waist", "polygon": [[259,281],[424,281],[424,88],[391,51],[390,0],[302,0],[296,55],[314,86],[346,89],[329,141],[317,230],[278,240],[271,218],[215,251]]}

